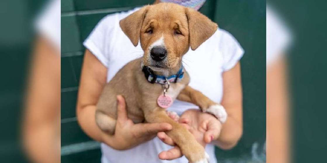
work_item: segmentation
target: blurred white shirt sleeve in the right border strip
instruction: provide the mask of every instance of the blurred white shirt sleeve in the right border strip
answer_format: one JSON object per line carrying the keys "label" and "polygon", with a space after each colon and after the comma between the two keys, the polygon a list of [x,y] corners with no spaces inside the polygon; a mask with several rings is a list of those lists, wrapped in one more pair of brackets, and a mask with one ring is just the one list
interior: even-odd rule
{"label": "blurred white shirt sleeve in the right border strip", "polygon": [[266,27],[266,64],[269,66],[285,52],[291,36],[283,21],[269,6],[266,8]]}

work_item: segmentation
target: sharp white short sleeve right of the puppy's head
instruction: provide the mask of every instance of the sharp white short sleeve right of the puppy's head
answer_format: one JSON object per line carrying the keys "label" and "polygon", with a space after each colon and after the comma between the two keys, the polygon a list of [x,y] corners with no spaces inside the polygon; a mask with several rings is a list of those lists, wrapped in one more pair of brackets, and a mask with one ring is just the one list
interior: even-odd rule
{"label": "sharp white short sleeve right of the puppy's head", "polygon": [[233,68],[244,54],[244,50],[238,41],[225,30],[221,30],[219,49],[223,56],[223,71]]}

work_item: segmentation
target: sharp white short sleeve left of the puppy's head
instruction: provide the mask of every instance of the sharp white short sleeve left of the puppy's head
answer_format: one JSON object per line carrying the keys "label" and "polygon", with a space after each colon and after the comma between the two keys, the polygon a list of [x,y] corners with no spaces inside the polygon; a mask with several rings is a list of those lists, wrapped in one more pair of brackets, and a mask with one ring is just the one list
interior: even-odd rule
{"label": "sharp white short sleeve left of the puppy's head", "polygon": [[105,66],[109,63],[109,50],[115,30],[116,15],[108,15],[98,22],[83,45]]}

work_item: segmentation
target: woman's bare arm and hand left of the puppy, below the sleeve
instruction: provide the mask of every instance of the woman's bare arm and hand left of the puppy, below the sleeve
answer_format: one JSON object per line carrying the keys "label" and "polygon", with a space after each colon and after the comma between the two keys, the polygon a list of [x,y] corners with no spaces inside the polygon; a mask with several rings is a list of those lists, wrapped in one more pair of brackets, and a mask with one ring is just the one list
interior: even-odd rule
{"label": "woman's bare arm and hand left of the puppy, below the sleeve", "polygon": [[83,68],[78,90],[76,115],[84,132],[96,141],[101,141],[114,149],[124,150],[148,141],[157,132],[167,131],[167,123],[134,124],[127,117],[126,105],[122,96],[117,97],[117,123],[115,135],[100,130],[95,122],[96,103],[107,79],[107,68],[89,51],[85,51]]}

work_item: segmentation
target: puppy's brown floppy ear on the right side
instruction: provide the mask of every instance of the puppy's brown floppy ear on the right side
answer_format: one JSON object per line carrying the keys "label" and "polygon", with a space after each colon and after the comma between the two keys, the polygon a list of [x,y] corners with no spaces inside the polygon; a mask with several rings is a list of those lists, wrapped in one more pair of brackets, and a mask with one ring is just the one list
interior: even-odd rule
{"label": "puppy's brown floppy ear on the right side", "polygon": [[192,8],[186,8],[186,16],[188,19],[190,46],[192,50],[196,50],[215,33],[218,25]]}

